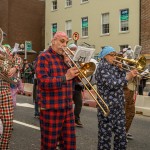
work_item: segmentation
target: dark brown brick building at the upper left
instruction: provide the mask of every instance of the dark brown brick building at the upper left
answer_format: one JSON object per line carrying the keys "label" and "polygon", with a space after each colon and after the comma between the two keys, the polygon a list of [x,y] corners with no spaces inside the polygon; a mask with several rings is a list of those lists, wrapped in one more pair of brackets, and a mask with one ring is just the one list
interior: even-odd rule
{"label": "dark brown brick building at the upper left", "polygon": [[[1,0],[0,28],[7,33],[3,44],[14,47],[15,43],[32,41],[37,53],[45,43],[45,2],[40,0]],[[37,55],[29,55],[31,62]],[[24,56],[23,56],[24,57]]]}

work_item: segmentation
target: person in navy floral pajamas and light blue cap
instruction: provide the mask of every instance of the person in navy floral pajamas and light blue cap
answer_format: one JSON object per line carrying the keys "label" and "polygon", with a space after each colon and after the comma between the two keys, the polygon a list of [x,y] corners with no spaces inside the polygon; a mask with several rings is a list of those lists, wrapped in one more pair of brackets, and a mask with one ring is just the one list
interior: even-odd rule
{"label": "person in navy floral pajamas and light blue cap", "polygon": [[[99,57],[101,61],[95,75],[97,90],[108,105],[110,114],[105,117],[98,108],[98,150],[111,149],[112,132],[114,132],[114,150],[125,150],[127,142],[123,87],[128,80],[137,75],[137,70],[126,73],[120,65],[114,65],[116,52],[110,46],[104,47]],[[101,103],[100,99],[98,101]]]}

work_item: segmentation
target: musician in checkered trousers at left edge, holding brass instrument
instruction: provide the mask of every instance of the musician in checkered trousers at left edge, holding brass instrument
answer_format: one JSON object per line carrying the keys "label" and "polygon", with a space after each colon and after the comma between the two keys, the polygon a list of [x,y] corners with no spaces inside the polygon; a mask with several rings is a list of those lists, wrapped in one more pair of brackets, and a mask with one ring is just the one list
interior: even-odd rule
{"label": "musician in checkered trousers at left edge, holding brass instrument", "polygon": [[[3,124],[3,134],[0,136],[0,149],[7,150],[9,149],[9,140],[11,136],[12,126],[13,126],[13,100],[10,92],[10,78],[20,69],[20,62],[13,60],[9,45],[2,45],[0,49],[1,58],[4,58],[0,61],[0,70],[4,73],[3,76],[0,76],[0,119]],[[8,59],[8,60],[7,60]],[[10,60],[9,60],[10,59]],[[9,61],[11,63],[9,63]],[[14,63],[12,63],[14,62]],[[4,70],[4,65],[7,67]],[[11,67],[9,67],[9,65]],[[8,70],[7,70],[8,69]],[[7,72],[6,72],[7,71]],[[6,78],[3,78],[6,77]],[[7,80],[8,79],[8,80]]]}

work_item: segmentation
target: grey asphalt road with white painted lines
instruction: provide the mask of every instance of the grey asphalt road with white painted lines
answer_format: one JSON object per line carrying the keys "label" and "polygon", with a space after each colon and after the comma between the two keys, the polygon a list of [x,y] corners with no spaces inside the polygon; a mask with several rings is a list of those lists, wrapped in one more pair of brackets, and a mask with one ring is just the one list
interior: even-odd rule
{"label": "grey asphalt road with white painted lines", "polygon": [[[77,150],[96,150],[96,108],[84,106],[81,121],[84,127],[76,127]],[[150,117],[136,115],[130,133],[134,139],[128,142],[127,150],[150,150]],[[10,150],[40,150],[39,120],[34,118],[32,97],[17,96]]]}

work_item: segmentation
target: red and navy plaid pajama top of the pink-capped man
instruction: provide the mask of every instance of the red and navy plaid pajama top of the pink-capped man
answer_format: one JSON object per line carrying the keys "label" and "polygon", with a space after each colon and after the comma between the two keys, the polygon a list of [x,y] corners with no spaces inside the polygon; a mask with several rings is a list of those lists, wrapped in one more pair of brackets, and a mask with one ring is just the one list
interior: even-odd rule
{"label": "red and navy plaid pajama top of the pink-capped man", "polygon": [[39,55],[35,66],[40,107],[45,109],[72,107],[73,80],[63,82],[68,69],[63,57],[49,48]]}

